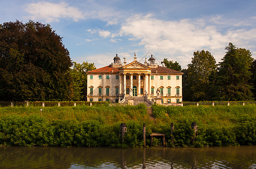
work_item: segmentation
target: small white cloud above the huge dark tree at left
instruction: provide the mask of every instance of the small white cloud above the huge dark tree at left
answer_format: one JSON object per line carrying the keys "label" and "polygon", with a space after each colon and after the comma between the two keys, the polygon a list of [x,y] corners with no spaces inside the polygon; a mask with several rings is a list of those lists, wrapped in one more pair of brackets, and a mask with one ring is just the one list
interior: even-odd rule
{"label": "small white cloud above the huge dark tree at left", "polygon": [[50,23],[59,21],[61,18],[72,19],[78,21],[84,19],[84,14],[78,8],[70,7],[68,3],[50,3],[50,2],[37,2],[30,3],[25,7],[25,11],[31,14],[32,20],[45,20]]}

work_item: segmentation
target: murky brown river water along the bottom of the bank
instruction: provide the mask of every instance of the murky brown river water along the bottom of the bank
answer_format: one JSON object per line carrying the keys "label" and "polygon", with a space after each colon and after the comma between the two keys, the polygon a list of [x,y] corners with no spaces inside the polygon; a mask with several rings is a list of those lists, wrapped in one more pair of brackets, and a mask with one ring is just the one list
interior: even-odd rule
{"label": "murky brown river water along the bottom of the bank", "polygon": [[256,168],[256,146],[0,148],[0,168]]}

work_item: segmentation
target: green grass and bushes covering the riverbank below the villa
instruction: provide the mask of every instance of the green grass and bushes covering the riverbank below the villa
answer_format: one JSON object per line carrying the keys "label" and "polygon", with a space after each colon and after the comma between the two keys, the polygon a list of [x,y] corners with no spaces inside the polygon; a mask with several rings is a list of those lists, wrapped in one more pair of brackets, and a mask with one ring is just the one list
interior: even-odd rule
{"label": "green grass and bushes covering the riverbank below the villa", "polygon": [[[143,123],[146,144],[150,134],[166,134],[167,146],[235,146],[256,145],[256,105],[158,106],[155,121],[147,116],[146,106],[14,106],[0,109],[0,144],[20,146],[143,146]],[[123,143],[120,124],[127,132]],[[191,123],[198,125],[197,136]],[[170,135],[170,123],[174,124]],[[173,142],[171,138],[173,137]],[[161,145],[154,138],[153,145]]]}

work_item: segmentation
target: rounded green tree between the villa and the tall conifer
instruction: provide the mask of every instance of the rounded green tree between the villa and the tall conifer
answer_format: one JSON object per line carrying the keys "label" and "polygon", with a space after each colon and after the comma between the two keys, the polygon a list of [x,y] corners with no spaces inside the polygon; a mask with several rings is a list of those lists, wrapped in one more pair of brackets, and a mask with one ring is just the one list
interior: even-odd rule
{"label": "rounded green tree between the villa and the tall conifer", "polygon": [[184,79],[185,100],[207,100],[211,74],[216,72],[216,61],[208,51],[195,51],[191,64],[187,65]]}

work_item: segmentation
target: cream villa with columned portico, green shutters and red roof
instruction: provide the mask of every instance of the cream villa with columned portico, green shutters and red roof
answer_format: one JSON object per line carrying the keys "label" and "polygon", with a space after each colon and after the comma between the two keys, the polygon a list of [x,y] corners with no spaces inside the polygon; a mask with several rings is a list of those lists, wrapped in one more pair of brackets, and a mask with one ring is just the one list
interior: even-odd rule
{"label": "cream villa with columned portico, green shutters and red roof", "polygon": [[182,101],[182,72],[159,66],[151,55],[144,64],[126,64],[120,57],[103,68],[87,72],[87,101],[120,102],[123,97],[146,97],[153,101],[159,89],[162,103]]}

